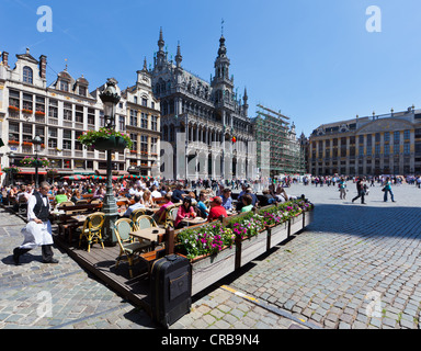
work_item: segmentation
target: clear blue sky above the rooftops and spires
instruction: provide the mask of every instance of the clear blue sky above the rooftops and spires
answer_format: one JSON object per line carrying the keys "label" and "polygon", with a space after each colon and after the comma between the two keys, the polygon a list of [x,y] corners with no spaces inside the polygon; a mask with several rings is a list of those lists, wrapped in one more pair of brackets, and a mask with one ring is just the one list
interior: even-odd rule
{"label": "clear blue sky above the rooftops and spires", "polygon": [[[53,32],[41,33],[36,10],[53,10]],[[382,32],[366,31],[369,5],[382,10]],[[321,124],[421,107],[419,0],[2,0],[0,50],[26,47],[47,56],[47,82],[65,68],[90,90],[115,77],[135,82],[144,57],[157,50],[159,29],[169,56],[180,41],[182,66],[209,80],[224,19],[230,73],[249,115],[261,103],[281,110],[307,136]]]}

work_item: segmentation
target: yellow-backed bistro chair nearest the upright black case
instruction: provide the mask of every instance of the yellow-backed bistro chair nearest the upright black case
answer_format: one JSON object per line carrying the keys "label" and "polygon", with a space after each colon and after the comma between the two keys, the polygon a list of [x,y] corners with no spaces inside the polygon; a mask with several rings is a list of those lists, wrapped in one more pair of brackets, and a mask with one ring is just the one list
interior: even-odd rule
{"label": "yellow-backed bistro chair nearest the upright black case", "polygon": [[139,258],[139,253],[147,251],[151,245],[147,240],[134,241],[130,233],[135,230],[137,230],[136,224],[128,218],[120,218],[115,222],[114,233],[120,246],[120,254],[116,258],[115,268],[118,267],[120,261],[127,261],[130,278],[133,278],[133,264]]}

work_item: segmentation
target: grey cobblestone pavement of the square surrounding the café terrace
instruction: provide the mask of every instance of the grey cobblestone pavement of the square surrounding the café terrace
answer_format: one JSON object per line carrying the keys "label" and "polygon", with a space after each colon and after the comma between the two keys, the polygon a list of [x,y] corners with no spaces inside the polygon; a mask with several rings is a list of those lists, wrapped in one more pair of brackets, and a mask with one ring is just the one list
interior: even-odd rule
{"label": "grey cobblestone pavement of the square surrounding the caf\u00e9 terrace", "polygon": [[[384,203],[377,185],[362,205],[349,189],[339,200],[332,186],[293,185],[316,204],[315,222],[195,297],[171,329],[418,328],[421,190],[394,186],[397,202]],[[0,208],[0,329],[159,328],[57,248],[58,264],[35,249],[15,267],[23,225]]]}

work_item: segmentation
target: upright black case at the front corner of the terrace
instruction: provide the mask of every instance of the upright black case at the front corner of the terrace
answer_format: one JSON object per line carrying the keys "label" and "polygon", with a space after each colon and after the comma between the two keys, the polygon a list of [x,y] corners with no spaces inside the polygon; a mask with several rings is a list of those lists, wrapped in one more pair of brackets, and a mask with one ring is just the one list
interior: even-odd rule
{"label": "upright black case at the front corner of the terrace", "polygon": [[182,256],[157,260],[150,274],[152,319],[168,328],[192,306],[192,265]]}

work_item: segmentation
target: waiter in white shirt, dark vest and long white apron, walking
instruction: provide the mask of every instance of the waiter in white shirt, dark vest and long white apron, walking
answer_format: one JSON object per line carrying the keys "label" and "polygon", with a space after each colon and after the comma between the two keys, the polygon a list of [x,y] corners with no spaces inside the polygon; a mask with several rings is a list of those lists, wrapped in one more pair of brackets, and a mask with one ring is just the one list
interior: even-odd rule
{"label": "waiter in white shirt, dark vest and long white apron, walking", "polygon": [[22,229],[23,244],[13,250],[13,261],[19,264],[19,258],[23,253],[41,246],[43,263],[58,263],[53,258],[53,234],[49,217],[48,191],[50,185],[42,182],[38,192],[30,197],[27,202],[27,225]]}

